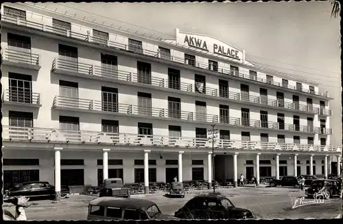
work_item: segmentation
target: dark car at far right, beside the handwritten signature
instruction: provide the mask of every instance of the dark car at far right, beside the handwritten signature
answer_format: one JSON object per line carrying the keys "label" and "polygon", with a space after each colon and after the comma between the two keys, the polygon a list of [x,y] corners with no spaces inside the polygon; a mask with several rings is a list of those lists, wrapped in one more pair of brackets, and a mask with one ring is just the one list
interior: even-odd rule
{"label": "dark car at far right, beside the handwritten signature", "polygon": [[341,184],[335,179],[316,179],[312,181],[312,184],[305,194],[309,198],[313,198],[315,194],[322,192],[324,199],[330,199],[332,197],[340,197]]}

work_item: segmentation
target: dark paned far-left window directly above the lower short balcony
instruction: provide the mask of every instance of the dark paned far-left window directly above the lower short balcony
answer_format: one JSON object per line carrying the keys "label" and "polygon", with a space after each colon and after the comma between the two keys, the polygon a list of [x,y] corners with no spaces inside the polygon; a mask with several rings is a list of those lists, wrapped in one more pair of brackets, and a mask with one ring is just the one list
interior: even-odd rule
{"label": "dark paned far-left window directly above the lower short balcony", "polygon": [[32,104],[32,76],[9,72],[8,82],[11,102]]}

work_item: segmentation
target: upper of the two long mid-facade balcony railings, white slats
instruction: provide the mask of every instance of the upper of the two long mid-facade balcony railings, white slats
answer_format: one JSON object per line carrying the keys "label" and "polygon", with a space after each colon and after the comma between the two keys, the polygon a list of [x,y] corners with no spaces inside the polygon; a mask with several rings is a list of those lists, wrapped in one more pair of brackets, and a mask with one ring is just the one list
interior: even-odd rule
{"label": "upper of the two long mid-facade balcony railings, white slats", "polygon": [[[157,78],[151,76],[151,73],[134,74],[129,71],[121,71],[115,68],[107,68],[102,66],[93,66],[85,63],[78,63],[75,60],[66,60],[64,58],[55,58],[52,65],[53,71],[62,70],[67,73],[78,73],[88,76],[97,76],[99,78],[108,78],[112,80],[122,80],[126,82],[135,82],[143,85],[152,85],[155,87],[165,87],[169,89],[178,89],[180,91],[187,91],[190,93],[200,93],[206,96],[216,96],[220,98],[228,98],[230,100],[244,101],[261,105],[268,105],[271,107],[292,109],[296,111],[303,111],[308,113],[319,113],[318,107],[309,105],[297,104],[293,102],[285,102],[283,100],[270,100],[268,98],[261,98],[258,96],[241,95],[223,89],[215,89],[210,87],[196,87],[194,84],[185,82],[178,82],[175,80],[168,80],[164,78]],[[330,111],[330,110],[329,110]]]}

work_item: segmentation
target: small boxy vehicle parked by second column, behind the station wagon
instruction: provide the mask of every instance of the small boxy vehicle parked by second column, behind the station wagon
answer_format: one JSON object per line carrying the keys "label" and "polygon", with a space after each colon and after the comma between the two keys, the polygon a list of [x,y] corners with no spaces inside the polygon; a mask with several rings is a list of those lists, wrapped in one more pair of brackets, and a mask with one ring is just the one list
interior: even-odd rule
{"label": "small boxy vehicle parked by second column, behind the station wagon", "polygon": [[99,192],[99,197],[130,197],[130,188],[123,186],[121,178],[108,178],[104,180],[104,188]]}

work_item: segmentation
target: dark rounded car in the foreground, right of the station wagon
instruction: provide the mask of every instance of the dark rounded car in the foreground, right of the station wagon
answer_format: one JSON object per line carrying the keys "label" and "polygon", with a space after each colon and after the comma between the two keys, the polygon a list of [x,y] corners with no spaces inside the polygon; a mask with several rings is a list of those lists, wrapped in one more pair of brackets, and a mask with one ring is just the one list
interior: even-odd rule
{"label": "dark rounded car in the foreground, right of the station wagon", "polygon": [[236,208],[228,198],[218,193],[193,197],[174,216],[180,219],[256,219],[252,212]]}

